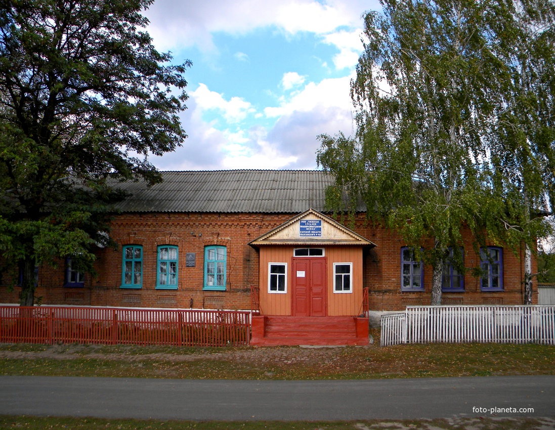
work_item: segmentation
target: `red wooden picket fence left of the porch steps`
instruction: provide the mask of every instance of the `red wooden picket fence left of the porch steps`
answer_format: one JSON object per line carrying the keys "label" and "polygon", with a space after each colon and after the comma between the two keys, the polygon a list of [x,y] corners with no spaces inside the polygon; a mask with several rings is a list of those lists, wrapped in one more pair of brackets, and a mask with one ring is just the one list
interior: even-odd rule
{"label": "red wooden picket fence left of the porch steps", "polygon": [[0,342],[249,345],[250,312],[0,306]]}

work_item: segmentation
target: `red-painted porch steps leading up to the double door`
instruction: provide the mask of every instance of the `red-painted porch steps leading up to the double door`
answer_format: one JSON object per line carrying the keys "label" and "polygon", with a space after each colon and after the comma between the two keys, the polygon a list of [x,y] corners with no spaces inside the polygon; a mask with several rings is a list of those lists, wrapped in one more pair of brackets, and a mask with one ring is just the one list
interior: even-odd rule
{"label": "red-painted porch steps leading up to the double door", "polygon": [[251,345],[368,345],[368,318],[253,316]]}

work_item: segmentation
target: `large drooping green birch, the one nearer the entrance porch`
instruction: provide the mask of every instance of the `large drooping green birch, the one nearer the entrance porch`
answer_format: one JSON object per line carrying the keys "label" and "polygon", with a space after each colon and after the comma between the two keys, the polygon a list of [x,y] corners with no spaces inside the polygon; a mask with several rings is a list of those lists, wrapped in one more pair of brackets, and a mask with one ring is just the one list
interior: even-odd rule
{"label": "large drooping green birch, the one nearer the entrance porch", "polygon": [[[553,77],[551,50],[539,49],[524,31],[526,25],[541,28],[542,41],[552,44],[553,4],[381,3],[382,14],[365,15],[364,53],[351,83],[356,136],[320,136],[317,161],[336,176],[327,194],[332,207],[340,207],[344,192],[351,203],[364,200],[369,213],[401,232],[415,258],[432,265],[431,303],[437,305],[445,263],[452,259],[464,270],[455,251],[462,246],[461,226],[476,237],[477,252],[486,237],[516,250],[546,230],[541,218],[531,218],[529,212],[540,203],[549,204],[549,186],[542,188],[534,180],[536,188],[529,186],[527,193],[519,194],[519,186],[524,190],[514,183],[514,174],[536,174],[526,165],[529,159],[518,159],[510,176],[497,157],[508,160],[514,145],[521,143],[511,146],[501,133],[507,130],[503,113],[522,95],[509,49],[519,40],[534,52],[535,64],[545,68],[543,78],[549,72]],[[535,12],[537,5],[541,12]],[[542,90],[552,97],[547,85]],[[507,92],[512,92],[510,97]],[[532,112],[537,109],[530,107]],[[555,160],[549,127],[551,123],[536,153],[544,180],[555,175],[549,170]]]}

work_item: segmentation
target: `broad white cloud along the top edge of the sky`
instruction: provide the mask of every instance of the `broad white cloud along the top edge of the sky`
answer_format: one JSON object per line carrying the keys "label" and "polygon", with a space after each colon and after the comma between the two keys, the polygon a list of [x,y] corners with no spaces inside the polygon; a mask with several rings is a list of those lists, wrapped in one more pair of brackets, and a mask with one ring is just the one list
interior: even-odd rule
{"label": "broad white cloud along the top edge of the sky", "polygon": [[380,8],[377,0],[190,0],[186,7],[182,0],[157,0],[145,15],[157,48],[175,52],[193,45],[212,50],[214,33],[238,35],[262,27],[325,36],[339,28],[359,28],[365,10]]}

